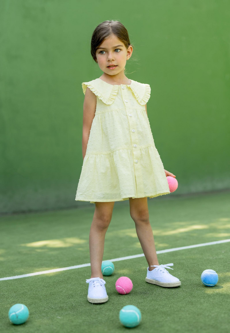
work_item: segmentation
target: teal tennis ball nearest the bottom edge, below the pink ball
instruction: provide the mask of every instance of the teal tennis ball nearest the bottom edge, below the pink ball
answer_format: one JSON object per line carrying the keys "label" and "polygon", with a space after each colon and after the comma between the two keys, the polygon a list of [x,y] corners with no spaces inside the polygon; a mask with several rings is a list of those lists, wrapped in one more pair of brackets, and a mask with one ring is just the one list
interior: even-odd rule
{"label": "teal tennis ball nearest the bottom edge, below the pink ball", "polygon": [[136,327],[141,321],[141,312],[134,305],[126,305],[120,310],[119,319],[125,327]]}

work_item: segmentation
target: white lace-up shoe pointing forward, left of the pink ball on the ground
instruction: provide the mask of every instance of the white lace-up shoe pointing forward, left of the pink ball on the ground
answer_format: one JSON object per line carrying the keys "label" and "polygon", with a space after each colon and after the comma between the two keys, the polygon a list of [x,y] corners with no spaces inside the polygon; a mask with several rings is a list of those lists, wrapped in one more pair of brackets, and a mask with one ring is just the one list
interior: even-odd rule
{"label": "white lace-up shoe pointing forward, left of the pink ball on the ground", "polygon": [[105,303],[108,301],[105,280],[100,279],[100,277],[92,277],[86,280],[86,283],[89,283],[87,299],[90,303]]}

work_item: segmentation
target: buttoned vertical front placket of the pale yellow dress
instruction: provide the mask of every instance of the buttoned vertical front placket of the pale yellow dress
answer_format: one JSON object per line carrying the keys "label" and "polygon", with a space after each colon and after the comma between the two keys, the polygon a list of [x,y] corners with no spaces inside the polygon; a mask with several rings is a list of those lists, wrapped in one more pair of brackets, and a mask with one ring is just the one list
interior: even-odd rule
{"label": "buttoned vertical front placket of the pale yellow dress", "polygon": [[[122,86],[123,87],[123,86]],[[144,197],[144,186],[143,186],[143,178],[142,178],[142,169],[141,169],[141,150],[139,145],[139,139],[138,139],[138,131],[137,129],[137,123],[135,117],[137,110],[133,110],[130,107],[129,99],[132,98],[128,96],[130,89],[123,89],[121,87],[121,93],[122,93],[122,99],[124,102],[124,106],[127,112],[128,116],[128,122],[130,126],[130,132],[131,132],[131,143],[132,143],[132,152],[133,152],[133,165],[134,165],[134,172],[135,172],[135,180],[136,180],[136,193],[135,197],[141,198]]]}

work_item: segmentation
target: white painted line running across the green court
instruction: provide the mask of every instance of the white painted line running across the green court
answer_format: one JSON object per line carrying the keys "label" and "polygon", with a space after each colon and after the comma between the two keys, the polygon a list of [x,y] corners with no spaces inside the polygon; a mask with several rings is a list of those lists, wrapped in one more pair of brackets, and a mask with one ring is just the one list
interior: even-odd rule
{"label": "white painted line running across the green court", "polygon": [[[191,248],[200,247],[200,246],[207,246],[207,245],[228,243],[228,242],[230,242],[230,239],[216,240],[214,242],[201,243],[201,244],[195,244],[195,245],[188,245],[188,246],[182,246],[182,247],[174,247],[172,249],[166,249],[166,250],[157,251],[157,254],[166,253],[166,252],[173,252],[173,251],[179,251],[179,250],[185,250],[185,249],[191,249]],[[114,259],[110,259],[110,261],[121,261],[121,260],[134,259],[134,258],[139,258],[139,257],[144,257],[144,253],[135,254],[135,255],[129,255],[127,257],[114,258]],[[105,261],[105,260],[103,260],[103,261]],[[49,270],[42,271],[42,272],[35,272],[35,273],[29,273],[29,274],[23,274],[23,275],[15,275],[15,276],[2,277],[2,278],[0,278],[0,281],[20,279],[22,277],[27,277],[27,276],[48,274],[48,273],[60,272],[60,271],[63,271],[63,270],[75,269],[75,268],[82,268],[82,267],[87,267],[87,266],[90,266],[90,263],[88,263],[88,264],[82,264],[82,265],[69,266],[69,267],[49,269]]]}

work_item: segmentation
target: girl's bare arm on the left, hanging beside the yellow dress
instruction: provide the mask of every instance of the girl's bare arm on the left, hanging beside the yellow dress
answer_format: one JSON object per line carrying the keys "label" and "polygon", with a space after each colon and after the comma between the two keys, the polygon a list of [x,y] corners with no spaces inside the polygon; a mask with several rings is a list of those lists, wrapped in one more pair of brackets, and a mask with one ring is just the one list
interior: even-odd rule
{"label": "girl's bare arm on the left, hanging beside the yellow dress", "polygon": [[87,144],[89,141],[90,129],[95,116],[97,97],[87,87],[83,104],[83,127],[82,127],[82,157],[85,158]]}

